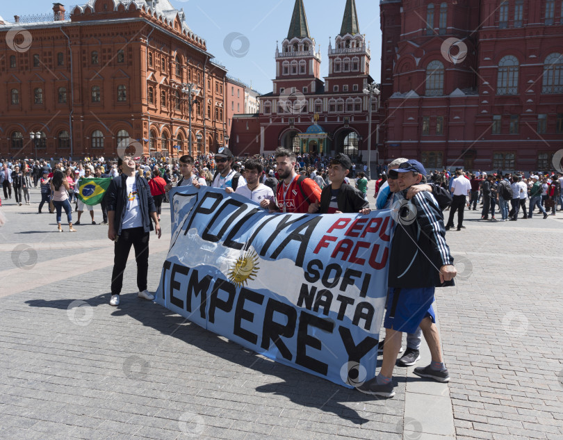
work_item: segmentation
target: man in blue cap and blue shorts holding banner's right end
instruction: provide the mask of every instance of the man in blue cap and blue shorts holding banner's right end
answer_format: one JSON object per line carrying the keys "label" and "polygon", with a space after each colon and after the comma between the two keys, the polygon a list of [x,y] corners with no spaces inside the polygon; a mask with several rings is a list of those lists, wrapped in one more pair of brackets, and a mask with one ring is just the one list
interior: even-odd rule
{"label": "man in blue cap and blue shorts holding banner's right end", "polygon": [[[423,165],[413,160],[402,163],[396,171],[403,197],[426,175]],[[450,380],[443,364],[434,311],[430,307],[434,302],[434,288],[452,286],[457,274],[446,244],[443,215],[434,196],[426,191],[417,193],[411,202],[405,199],[404,205],[399,208],[398,225],[391,241],[382,368],[377,377],[358,387],[362,393],[382,397],[395,395],[391,379],[402,332],[414,333],[418,325],[430,348],[432,364],[415,368],[414,373],[438,382]]]}

